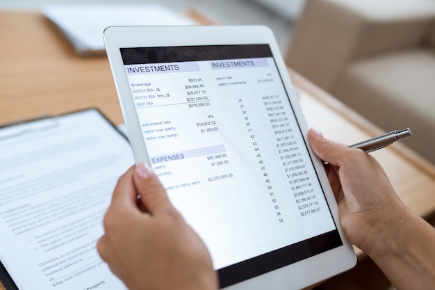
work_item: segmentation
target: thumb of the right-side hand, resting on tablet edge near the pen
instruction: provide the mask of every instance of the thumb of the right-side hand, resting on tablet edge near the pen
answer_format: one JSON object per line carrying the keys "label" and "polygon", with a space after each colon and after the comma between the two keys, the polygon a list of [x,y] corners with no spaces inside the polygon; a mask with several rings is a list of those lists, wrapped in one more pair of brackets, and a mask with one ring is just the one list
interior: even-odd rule
{"label": "thumb of the right-side hand, resting on tablet edge near the pen", "polygon": [[320,159],[339,167],[346,161],[349,161],[346,157],[348,156],[347,153],[350,152],[350,150],[354,150],[346,145],[325,139],[322,133],[314,128],[309,130],[308,139],[311,148],[313,148],[315,154],[317,154]]}

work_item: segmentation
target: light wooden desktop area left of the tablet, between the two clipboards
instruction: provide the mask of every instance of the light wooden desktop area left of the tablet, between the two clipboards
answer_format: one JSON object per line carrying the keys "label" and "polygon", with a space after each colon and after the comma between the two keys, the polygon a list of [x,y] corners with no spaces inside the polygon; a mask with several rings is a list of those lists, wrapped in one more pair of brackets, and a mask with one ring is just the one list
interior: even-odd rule
{"label": "light wooden desktop area left of the tablet, between the two clipboards", "polygon": [[78,58],[37,13],[0,13],[0,123],[97,106],[123,122],[108,61]]}

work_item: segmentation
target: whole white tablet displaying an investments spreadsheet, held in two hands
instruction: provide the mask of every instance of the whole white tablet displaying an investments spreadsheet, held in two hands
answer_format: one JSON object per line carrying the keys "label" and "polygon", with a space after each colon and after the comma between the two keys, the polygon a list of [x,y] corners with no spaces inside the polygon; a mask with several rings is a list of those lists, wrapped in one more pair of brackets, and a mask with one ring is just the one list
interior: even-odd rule
{"label": "whole white tablet displaying an investments spreadsheet, held in two hands", "polygon": [[136,162],[202,237],[225,289],[300,289],[352,268],[286,65],[264,26],[113,26]]}

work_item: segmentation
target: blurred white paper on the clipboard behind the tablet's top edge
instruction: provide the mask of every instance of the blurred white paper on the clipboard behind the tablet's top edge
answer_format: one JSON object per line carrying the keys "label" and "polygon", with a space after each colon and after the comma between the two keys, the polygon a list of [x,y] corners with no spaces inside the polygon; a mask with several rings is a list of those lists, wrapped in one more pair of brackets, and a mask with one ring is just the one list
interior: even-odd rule
{"label": "blurred white paper on the clipboard behind the tablet's top edge", "polygon": [[81,55],[104,54],[103,31],[108,26],[197,24],[157,4],[52,5],[42,13],[58,26]]}

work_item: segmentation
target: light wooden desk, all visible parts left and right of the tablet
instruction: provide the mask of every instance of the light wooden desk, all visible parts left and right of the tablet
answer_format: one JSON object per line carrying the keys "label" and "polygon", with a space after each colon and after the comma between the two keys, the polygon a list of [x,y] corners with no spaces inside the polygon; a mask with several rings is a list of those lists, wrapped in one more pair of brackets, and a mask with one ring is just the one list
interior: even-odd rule
{"label": "light wooden desk, all visible parts left and right of the tablet", "polygon": [[[123,122],[105,57],[76,57],[62,35],[38,13],[0,12],[0,39],[0,124],[91,106],[115,124]],[[381,132],[296,72],[289,72],[309,124],[327,138],[351,144]],[[425,218],[434,214],[435,168],[431,164],[397,143],[374,155],[413,211]],[[4,290],[1,284],[0,290]]]}

